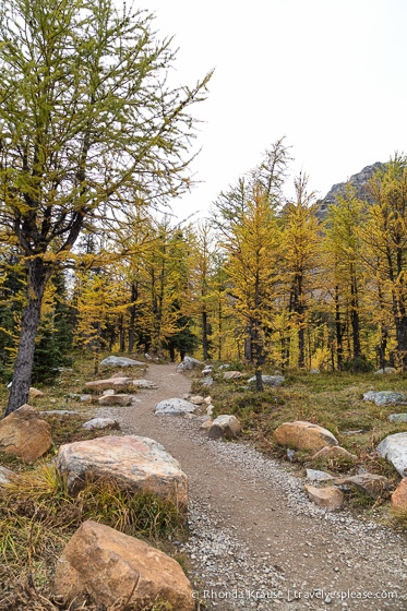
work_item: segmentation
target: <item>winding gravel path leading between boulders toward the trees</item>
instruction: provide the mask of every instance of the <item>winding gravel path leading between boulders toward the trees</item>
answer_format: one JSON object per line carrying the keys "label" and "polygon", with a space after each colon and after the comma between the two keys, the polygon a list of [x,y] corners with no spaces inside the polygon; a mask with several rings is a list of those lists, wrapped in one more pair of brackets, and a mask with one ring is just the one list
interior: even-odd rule
{"label": "winding gravel path leading between boulders toward the trees", "polygon": [[207,609],[407,609],[404,536],[318,507],[289,466],[247,444],[210,442],[195,419],[155,416],[156,403],[181,397],[190,381],[173,366],[154,364],[146,379],[158,390],[97,416],[160,442],[188,474],[191,538],[177,544]]}

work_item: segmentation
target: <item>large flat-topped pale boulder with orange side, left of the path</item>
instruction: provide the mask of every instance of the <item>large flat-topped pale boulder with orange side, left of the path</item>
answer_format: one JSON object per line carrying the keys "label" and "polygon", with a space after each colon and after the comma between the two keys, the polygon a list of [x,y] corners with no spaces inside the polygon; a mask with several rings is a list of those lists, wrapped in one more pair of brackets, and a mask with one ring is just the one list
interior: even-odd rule
{"label": "large flat-topped pale boulder with orange side, left of the path", "polygon": [[57,468],[67,476],[70,493],[86,480],[113,479],[134,492],[148,491],[188,506],[188,477],[163,445],[136,435],[104,436],[61,445]]}

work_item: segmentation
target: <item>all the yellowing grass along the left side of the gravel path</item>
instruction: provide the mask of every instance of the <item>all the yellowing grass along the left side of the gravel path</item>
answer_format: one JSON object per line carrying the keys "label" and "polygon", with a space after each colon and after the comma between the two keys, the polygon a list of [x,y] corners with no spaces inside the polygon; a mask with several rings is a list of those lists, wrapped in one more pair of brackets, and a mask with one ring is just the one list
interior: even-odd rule
{"label": "all the yellowing grass along the left side of the gravel path", "polygon": [[[86,519],[141,538],[175,556],[183,568],[188,566],[171,542],[188,535],[184,512],[179,512],[173,503],[148,492],[133,494],[111,480],[88,482],[72,498],[51,463],[61,444],[119,434],[118,426],[84,429],[83,423],[94,416],[94,406],[80,400],[86,381],[109,378],[113,372],[117,370],[104,369],[95,375],[92,361],[79,360],[72,371],[62,371],[51,385],[38,386],[45,396],[29,400],[38,411],[64,409],[75,414],[43,415],[50,424],[53,446],[40,462],[27,465],[0,453],[0,465],[15,472],[0,493],[0,611],[64,609],[50,596],[55,565],[68,540]],[[124,375],[140,378],[140,368],[127,368]],[[5,406],[5,402],[7,390],[1,387],[0,406]],[[105,610],[89,599],[81,609],[121,611],[124,607],[118,600],[111,610]],[[125,606],[125,610],[131,609],[132,606]],[[74,604],[69,611],[74,611]],[[148,611],[171,611],[171,606],[157,600]]]}

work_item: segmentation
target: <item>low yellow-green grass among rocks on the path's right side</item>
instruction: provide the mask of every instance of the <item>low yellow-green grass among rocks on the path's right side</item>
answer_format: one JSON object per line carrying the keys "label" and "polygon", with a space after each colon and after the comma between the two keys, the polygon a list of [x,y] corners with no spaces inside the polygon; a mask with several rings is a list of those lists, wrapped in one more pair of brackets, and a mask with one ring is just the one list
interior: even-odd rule
{"label": "low yellow-green grass among rocks on the path's right side", "polygon": [[[250,368],[242,369],[249,378]],[[242,424],[242,438],[253,443],[262,452],[288,460],[287,448],[273,440],[273,432],[283,422],[307,420],[330,430],[339,445],[357,455],[357,464],[344,458],[310,462],[314,454],[310,451],[297,451],[294,465],[298,470],[303,467],[320,468],[333,475],[347,472],[355,475],[362,467],[369,472],[382,475],[396,487],[399,475],[394,467],[376,453],[378,444],[387,435],[407,431],[407,423],[388,422],[390,414],[406,411],[406,406],[376,406],[363,400],[368,391],[406,392],[407,374],[352,374],[289,372],[280,387],[264,387],[256,393],[248,387],[247,380],[225,381],[224,372],[215,372],[214,384],[210,388],[202,386],[201,380],[193,382],[193,392],[211,394],[215,406],[214,417],[219,414],[232,414]],[[264,373],[273,373],[273,370]],[[356,432],[361,431],[361,432]],[[375,505],[360,492],[351,491],[347,495],[348,506],[372,508]],[[376,503],[378,505],[378,503]],[[388,510],[388,503],[387,503]],[[388,512],[387,512],[388,513]],[[407,527],[407,519],[404,524]]]}

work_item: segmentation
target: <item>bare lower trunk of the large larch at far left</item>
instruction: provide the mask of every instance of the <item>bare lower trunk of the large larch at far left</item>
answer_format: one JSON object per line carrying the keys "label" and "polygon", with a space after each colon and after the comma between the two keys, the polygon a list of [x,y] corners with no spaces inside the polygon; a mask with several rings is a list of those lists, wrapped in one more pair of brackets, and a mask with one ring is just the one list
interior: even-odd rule
{"label": "bare lower trunk of the large larch at far left", "polygon": [[40,257],[27,260],[26,273],[28,302],[23,311],[19,349],[14,363],[13,382],[4,416],[15,411],[28,400],[34,361],[35,336],[37,334],[41,315],[44,290],[50,276],[50,269],[44,265],[44,261]]}

